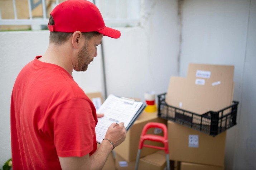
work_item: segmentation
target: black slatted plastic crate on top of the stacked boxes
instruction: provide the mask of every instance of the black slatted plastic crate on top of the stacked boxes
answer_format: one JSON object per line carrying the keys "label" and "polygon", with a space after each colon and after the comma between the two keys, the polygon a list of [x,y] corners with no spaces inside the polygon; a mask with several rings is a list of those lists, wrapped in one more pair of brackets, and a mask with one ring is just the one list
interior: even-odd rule
{"label": "black slatted plastic crate on top of the stacked boxes", "polygon": [[158,117],[172,120],[200,132],[216,136],[236,125],[237,105],[239,102],[218,111],[202,115],[166,104],[166,93],[158,95]]}

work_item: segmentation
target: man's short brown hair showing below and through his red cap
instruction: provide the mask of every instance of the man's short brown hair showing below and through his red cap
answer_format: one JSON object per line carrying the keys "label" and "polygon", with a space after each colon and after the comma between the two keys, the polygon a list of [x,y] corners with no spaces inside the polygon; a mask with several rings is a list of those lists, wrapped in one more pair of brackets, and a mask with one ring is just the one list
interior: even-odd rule
{"label": "man's short brown hair showing below and through his red cap", "polygon": [[[52,15],[49,18],[49,25],[54,25],[54,20]],[[68,38],[73,34],[73,32],[50,32],[50,42],[56,43],[58,45],[63,44],[64,42],[68,41]],[[87,39],[90,40],[93,36],[100,35],[99,32],[82,32],[82,35]]]}

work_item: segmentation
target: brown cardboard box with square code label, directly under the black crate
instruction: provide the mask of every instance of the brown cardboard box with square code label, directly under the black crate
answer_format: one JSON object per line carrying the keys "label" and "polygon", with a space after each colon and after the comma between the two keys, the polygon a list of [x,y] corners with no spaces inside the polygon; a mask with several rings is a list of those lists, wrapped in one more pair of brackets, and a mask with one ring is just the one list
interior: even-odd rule
{"label": "brown cardboard box with square code label, directly under the black crate", "polygon": [[215,137],[168,121],[170,160],[224,166],[226,132]]}

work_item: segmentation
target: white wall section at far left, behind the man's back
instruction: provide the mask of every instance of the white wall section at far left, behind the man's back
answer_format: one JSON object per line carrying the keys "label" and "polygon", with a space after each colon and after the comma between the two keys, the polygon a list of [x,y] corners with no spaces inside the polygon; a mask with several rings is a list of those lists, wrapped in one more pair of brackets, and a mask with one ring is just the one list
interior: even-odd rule
{"label": "white wall section at far left, behind the man's back", "polygon": [[[37,45],[36,45],[37,44]],[[10,99],[15,79],[23,66],[43,54],[48,37],[38,32],[0,32],[0,167],[11,158]]]}

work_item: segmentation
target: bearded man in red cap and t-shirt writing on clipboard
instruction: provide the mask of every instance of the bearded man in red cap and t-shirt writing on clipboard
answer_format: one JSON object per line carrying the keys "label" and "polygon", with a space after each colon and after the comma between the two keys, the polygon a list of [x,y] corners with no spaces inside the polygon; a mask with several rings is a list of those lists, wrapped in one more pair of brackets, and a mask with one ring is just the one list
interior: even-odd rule
{"label": "bearded man in red cap and t-shirt writing on clipboard", "polygon": [[48,27],[47,51],[21,70],[11,96],[13,170],[102,169],[126,129],[111,124],[97,149],[96,110],[72,71],[86,71],[103,35],[119,38],[120,32],[106,27],[86,0],[56,6]]}

